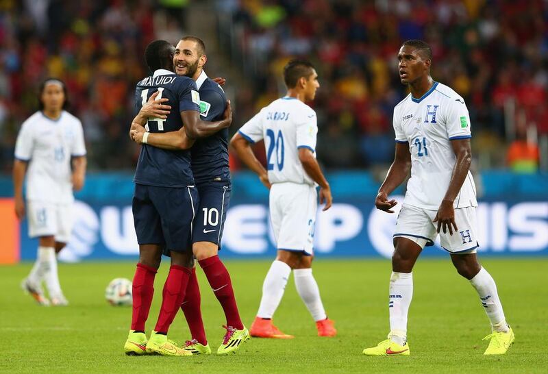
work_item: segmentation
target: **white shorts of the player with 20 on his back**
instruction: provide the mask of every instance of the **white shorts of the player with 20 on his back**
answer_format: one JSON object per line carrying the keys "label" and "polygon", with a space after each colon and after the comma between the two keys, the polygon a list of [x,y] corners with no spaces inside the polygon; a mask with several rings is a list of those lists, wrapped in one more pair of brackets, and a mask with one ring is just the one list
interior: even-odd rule
{"label": "white shorts of the player with 20 on his back", "polygon": [[310,184],[275,183],[270,189],[270,218],[277,249],[312,255],[318,196]]}

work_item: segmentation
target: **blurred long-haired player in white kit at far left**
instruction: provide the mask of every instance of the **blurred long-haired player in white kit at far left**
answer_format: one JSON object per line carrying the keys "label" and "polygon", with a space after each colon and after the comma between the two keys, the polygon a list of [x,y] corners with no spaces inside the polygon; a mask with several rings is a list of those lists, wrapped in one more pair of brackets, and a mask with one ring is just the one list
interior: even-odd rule
{"label": "blurred long-haired player in white kit at far left", "polygon": [[38,237],[36,262],[21,286],[40,305],[47,306],[50,300],[42,292],[43,280],[51,305],[66,306],[55,255],[71,237],[73,190],[84,186],[86,145],[82,123],[65,110],[69,102],[63,82],[45,80],[38,101],[40,110],[21,125],[15,145],[15,213],[20,220],[27,215],[29,236]]}

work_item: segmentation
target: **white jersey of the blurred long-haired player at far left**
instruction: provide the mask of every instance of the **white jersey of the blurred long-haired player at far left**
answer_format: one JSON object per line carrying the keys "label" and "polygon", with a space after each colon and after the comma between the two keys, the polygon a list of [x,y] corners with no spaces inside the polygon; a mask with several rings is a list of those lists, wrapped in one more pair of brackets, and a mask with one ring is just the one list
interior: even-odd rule
{"label": "white jersey of the blurred long-haired player at far left", "polygon": [[64,110],[57,120],[36,112],[23,122],[15,158],[29,162],[27,200],[71,203],[71,157],[86,155],[82,123]]}

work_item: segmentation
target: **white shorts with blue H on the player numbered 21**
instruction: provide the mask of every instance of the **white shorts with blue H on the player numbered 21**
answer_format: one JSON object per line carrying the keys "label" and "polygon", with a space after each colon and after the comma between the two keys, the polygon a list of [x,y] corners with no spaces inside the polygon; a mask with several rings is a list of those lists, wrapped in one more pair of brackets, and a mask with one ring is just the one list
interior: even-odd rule
{"label": "white shorts with blue H on the player numbered 21", "polygon": [[[437,222],[432,222],[436,217],[437,210],[426,210],[412,205],[403,205],[399,211],[396,222],[396,233],[394,237],[408,238],[420,245],[434,245],[438,233]],[[443,233],[440,229],[441,247],[450,253],[475,253],[479,244],[477,243],[477,225],[475,220],[475,207],[459,208],[455,210],[455,223],[457,232],[453,235]]]}

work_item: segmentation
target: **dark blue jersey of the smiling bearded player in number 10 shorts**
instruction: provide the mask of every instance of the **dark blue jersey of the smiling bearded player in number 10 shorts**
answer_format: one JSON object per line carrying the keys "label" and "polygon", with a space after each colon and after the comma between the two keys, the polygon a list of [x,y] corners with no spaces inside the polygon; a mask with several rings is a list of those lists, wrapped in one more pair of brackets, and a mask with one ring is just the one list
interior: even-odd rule
{"label": "dark blue jersey of the smiling bearded player in number 10 shorts", "polygon": [[[207,78],[199,88],[200,117],[203,121],[220,121],[227,106],[223,88]],[[228,129],[199,139],[191,148],[192,173],[196,183],[212,180],[229,181]]]}

